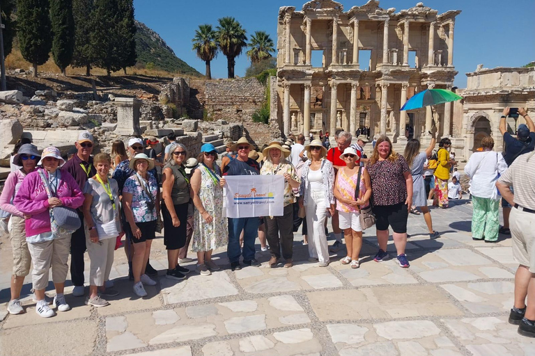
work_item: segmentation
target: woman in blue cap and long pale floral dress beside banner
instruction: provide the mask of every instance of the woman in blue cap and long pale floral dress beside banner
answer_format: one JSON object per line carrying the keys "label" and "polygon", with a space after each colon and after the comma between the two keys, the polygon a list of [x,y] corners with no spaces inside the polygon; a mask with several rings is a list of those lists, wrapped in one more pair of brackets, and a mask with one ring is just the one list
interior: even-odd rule
{"label": "woman in blue cap and long pale floral dress beside banner", "polygon": [[210,275],[210,270],[219,270],[212,261],[212,250],[227,243],[227,223],[223,217],[223,188],[219,184],[221,170],[215,163],[217,151],[211,143],[201,147],[197,158],[199,165],[192,175],[194,233],[192,250],[197,252],[197,270],[201,275]]}

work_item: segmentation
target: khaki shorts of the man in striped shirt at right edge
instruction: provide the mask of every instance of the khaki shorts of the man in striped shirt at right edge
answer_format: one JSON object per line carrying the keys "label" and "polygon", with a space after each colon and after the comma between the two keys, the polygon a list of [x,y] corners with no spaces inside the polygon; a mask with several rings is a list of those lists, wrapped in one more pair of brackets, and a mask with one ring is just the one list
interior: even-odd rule
{"label": "khaki shorts of the man in striped shirt at right edge", "polygon": [[509,228],[513,236],[513,257],[529,272],[535,273],[535,214],[511,209]]}

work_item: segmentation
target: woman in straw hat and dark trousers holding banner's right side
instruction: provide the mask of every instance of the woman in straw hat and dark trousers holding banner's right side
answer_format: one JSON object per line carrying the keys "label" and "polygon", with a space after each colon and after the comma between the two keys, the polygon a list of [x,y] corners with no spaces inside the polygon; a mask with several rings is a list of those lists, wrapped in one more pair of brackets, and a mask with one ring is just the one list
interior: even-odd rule
{"label": "woman in straw hat and dark trousers holding banner's right side", "polygon": [[[266,161],[260,170],[261,175],[281,175],[284,177],[284,213],[283,216],[265,216],[267,229],[267,243],[270,245],[270,267],[277,266],[279,258],[285,260],[284,267],[293,266],[293,203],[295,196],[292,188],[297,188],[300,179],[297,177],[295,168],[286,158],[290,156],[290,150],[281,147],[281,143],[272,142],[265,147],[262,154]],[[280,235],[280,241],[279,241]]]}

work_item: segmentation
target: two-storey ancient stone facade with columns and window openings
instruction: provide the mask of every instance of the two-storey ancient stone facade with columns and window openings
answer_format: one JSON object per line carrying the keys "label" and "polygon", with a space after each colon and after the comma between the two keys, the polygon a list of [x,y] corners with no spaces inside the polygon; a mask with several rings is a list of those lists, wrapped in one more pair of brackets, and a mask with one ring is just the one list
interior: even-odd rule
{"label": "two-storey ancient stone facade with columns and window openings", "polygon": [[[405,140],[405,127],[413,127],[415,137],[429,139],[431,108],[410,113],[400,108],[415,92],[453,86],[459,13],[439,15],[423,3],[395,13],[376,0],[346,12],[331,0],[309,1],[301,11],[280,8],[276,100],[284,134],[336,129],[354,134],[370,127],[371,135],[387,134],[396,142]],[[451,104],[435,110],[442,122],[439,135],[450,136]]]}

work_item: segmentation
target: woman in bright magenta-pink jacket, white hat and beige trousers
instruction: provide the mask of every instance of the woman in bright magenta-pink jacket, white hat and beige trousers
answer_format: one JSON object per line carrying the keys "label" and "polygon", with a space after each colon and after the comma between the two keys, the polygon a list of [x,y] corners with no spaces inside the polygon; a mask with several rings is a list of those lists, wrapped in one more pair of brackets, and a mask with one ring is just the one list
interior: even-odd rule
{"label": "woman in bright magenta-pink jacket, white hat and beige trousers", "polygon": [[[26,242],[33,261],[31,280],[36,293],[36,313],[43,318],[54,316],[55,313],[45,302],[45,289],[48,285],[48,275],[52,266],[52,281],[56,287],[53,307],[60,312],[66,312],[70,306],[65,302],[63,288],[67,277],[70,250],[70,234],[52,233],[49,209],[54,207],[70,207],[77,209],[84,204],[84,195],[77,182],[59,166],[65,163],[61,158],[59,149],[46,147],[42,151],[41,160],[43,169],[26,175],[13,204],[22,213],[30,216],[26,219]],[[45,181],[52,193],[48,197]]]}

